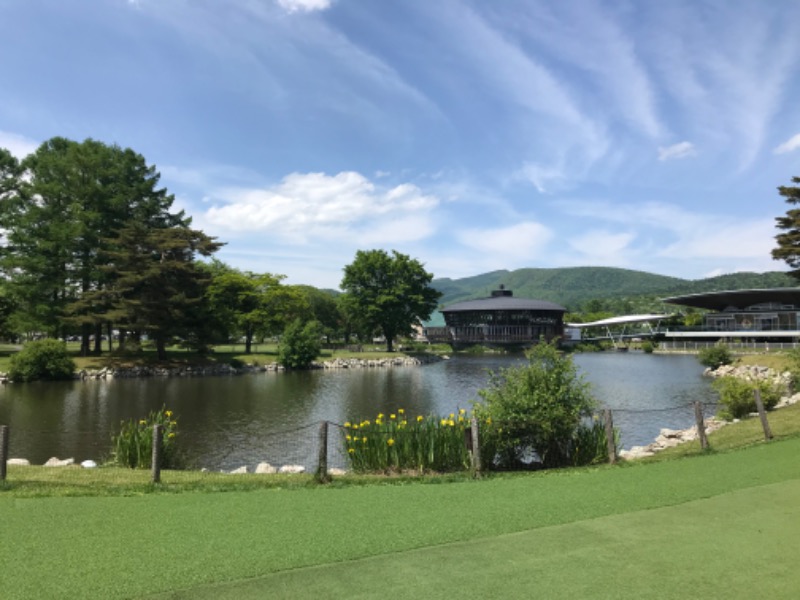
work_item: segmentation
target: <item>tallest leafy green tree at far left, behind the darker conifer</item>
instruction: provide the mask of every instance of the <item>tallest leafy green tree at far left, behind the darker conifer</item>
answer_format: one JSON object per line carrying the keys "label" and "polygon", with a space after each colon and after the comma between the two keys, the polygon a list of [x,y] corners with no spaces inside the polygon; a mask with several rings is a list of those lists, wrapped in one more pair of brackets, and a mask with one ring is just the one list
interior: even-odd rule
{"label": "tallest leafy green tree at far left, behind the darker conifer", "polygon": [[83,354],[94,332],[99,351],[98,307],[78,301],[113,277],[104,252],[131,223],[158,229],[189,221],[170,213],[173,199],[158,188],[159,174],[130,149],[55,137],[21,168],[22,183],[0,211],[2,266],[23,313],[16,320],[59,337],[80,331]]}

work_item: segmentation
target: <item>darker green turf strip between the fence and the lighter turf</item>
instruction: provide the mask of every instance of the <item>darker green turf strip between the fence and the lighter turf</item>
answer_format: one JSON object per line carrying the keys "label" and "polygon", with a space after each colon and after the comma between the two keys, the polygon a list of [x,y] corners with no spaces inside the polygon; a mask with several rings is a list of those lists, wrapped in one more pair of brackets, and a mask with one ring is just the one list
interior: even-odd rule
{"label": "darker green turf strip between the fence and the lighter turf", "polygon": [[[0,590],[4,598],[141,597],[453,542],[489,542],[800,479],[798,455],[795,438],[651,465],[447,485],[29,499],[0,493]],[[718,526],[731,528],[747,520],[741,512],[720,518]],[[602,552],[591,545],[588,551]],[[502,572],[512,559],[484,560]],[[515,570],[513,560],[507,567]],[[450,577],[444,567],[439,576]]]}

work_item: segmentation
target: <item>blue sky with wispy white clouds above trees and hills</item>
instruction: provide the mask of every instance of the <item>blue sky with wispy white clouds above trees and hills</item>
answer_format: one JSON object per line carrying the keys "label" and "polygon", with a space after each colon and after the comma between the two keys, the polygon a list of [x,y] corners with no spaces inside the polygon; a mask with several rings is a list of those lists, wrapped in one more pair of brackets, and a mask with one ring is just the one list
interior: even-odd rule
{"label": "blue sky with wispy white clouds above trees and hills", "polygon": [[0,146],[130,147],[232,266],[338,287],[783,270],[795,0],[0,0]]}

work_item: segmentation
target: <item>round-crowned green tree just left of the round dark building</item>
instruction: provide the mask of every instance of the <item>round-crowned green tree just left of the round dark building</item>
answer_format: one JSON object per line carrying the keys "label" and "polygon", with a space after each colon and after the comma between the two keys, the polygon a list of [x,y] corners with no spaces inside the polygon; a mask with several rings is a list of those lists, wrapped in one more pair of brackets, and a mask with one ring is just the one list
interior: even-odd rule
{"label": "round-crowned green tree just left of the round dark building", "polygon": [[396,250],[359,250],[344,268],[342,289],[366,325],[379,329],[392,352],[394,340],[430,318],[441,294],[430,287],[433,275]]}

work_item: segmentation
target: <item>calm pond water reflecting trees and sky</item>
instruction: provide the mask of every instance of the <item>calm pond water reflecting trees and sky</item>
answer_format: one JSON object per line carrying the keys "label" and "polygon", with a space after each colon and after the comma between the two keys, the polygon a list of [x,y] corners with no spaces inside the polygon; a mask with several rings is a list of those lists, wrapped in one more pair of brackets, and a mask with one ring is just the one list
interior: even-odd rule
{"label": "calm pond water reflecting trees and sky", "polygon": [[[100,462],[120,421],[166,406],[179,417],[190,467],[310,467],[322,420],[344,423],[398,408],[410,415],[469,409],[490,370],[523,361],[457,356],[420,367],[12,384],[0,388],[0,424],[10,426],[13,457]],[[594,396],[614,411],[625,448],[650,443],[662,427],[691,426],[686,405],[716,399],[695,356],[593,353],[574,361]]]}

